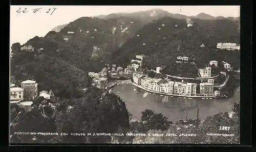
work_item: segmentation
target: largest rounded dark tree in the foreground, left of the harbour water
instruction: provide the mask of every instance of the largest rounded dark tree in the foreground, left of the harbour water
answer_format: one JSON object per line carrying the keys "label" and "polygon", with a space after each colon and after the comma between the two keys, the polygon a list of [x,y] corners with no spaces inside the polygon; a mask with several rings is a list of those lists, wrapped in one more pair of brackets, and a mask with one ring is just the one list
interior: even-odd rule
{"label": "largest rounded dark tree in the foreground, left of the harbour water", "polygon": [[[125,103],[115,94],[101,97],[101,91],[91,88],[82,98],[73,99],[73,108],[64,108],[56,117],[58,132],[117,133],[129,128]],[[67,107],[67,106],[66,106]],[[118,116],[118,117],[116,117]],[[75,138],[75,139],[74,139]],[[61,143],[109,143],[110,136],[67,136]]]}

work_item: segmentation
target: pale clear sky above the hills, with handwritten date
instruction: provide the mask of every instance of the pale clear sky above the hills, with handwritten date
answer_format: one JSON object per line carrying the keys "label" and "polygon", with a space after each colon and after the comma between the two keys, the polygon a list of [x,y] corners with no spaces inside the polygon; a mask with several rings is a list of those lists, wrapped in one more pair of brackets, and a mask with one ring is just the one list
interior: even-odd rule
{"label": "pale clear sky above the hills, with handwritten date", "polygon": [[[37,8],[41,9],[34,13],[33,9]],[[30,38],[45,36],[54,27],[68,24],[80,17],[150,9],[163,9],[187,16],[199,13],[240,16],[240,6],[10,6],[10,47],[15,42],[23,45]]]}

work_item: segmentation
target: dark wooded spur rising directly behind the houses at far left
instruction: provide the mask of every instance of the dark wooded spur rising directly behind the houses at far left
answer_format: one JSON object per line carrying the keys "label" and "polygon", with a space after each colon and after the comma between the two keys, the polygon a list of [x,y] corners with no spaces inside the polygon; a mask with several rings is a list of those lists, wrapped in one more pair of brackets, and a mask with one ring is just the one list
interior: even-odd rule
{"label": "dark wooded spur rising directly behind the houses at far left", "polygon": [[38,82],[38,92],[52,90],[58,97],[77,97],[78,90],[90,87],[88,74],[67,61],[37,52],[15,53],[11,75],[16,85],[31,79]]}

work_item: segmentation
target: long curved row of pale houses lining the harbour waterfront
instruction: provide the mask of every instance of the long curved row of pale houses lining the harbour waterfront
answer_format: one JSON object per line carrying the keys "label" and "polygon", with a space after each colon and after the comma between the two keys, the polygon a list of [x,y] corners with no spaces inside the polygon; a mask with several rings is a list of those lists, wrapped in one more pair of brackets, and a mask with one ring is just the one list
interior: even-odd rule
{"label": "long curved row of pale houses lining the harbour waterfront", "polygon": [[197,93],[197,83],[188,83],[176,81],[169,81],[168,79],[155,79],[147,77],[143,74],[133,74],[134,83],[139,85],[142,89],[165,95],[179,95],[179,96],[204,96],[213,97],[220,96],[219,91],[214,92],[214,79],[208,79],[207,82],[200,83],[200,91]]}

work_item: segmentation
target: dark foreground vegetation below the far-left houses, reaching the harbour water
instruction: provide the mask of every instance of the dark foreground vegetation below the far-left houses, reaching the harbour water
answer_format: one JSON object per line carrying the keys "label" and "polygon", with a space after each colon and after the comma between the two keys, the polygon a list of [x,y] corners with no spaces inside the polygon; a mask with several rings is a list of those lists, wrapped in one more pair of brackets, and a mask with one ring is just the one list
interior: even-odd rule
{"label": "dark foreground vegetation below the far-left houses, reaching the harbour water", "polygon": [[[33,139],[34,135],[13,135],[11,143],[110,142],[110,136],[87,136],[87,133],[117,133],[122,131],[122,129],[130,127],[129,115],[125,103],[120,97],[107,94],[101,98],[101,93],[100,90],[91,88],[81,98],[60,99],[54,97],[45,104],[40,103],[44,106],[33,105],[28,112],[13,106],[13,113],[14,111],[21,111],[22,113],[13,120],[12,135],[14,132],[45,132],[68,133],[69,136],[36,135],[36,139]],[[55,103],[56,108],[49,106],[48,102]],[[71,133],[86,133],[86,136],[72,136]]]}

